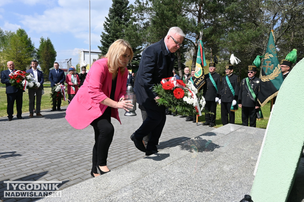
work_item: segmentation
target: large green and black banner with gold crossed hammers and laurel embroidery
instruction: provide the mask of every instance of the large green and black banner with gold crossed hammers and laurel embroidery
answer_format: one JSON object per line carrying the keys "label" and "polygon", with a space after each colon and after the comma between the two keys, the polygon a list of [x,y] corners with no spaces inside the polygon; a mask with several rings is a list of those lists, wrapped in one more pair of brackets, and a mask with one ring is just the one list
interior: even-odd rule
{"label": "large green and black banner with gold crossed hammers and laurel embroidery", "polygon": [[262,66],[260,92],[257,98],[261,106],[278,95],[282,82],[281,66],[278,61],[273,30],[271,30]]}

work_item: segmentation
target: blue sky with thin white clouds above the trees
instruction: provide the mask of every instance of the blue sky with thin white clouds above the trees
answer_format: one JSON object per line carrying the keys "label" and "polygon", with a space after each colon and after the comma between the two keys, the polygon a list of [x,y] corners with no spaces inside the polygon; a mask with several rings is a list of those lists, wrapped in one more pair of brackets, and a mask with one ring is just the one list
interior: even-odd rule
{"label": "blue sky with thin white clouds above the trees", "polygon": [[[129,0],[130,4],[134,0]],[[91,51],[100,52],[100,35],[112,1],[91,0]],[[78,51],[89,50],[89,0],[0,0],[0,27],[22,28],[39,47],[40,37],[49,37],[57,51],[56,62],[78,63]]]}

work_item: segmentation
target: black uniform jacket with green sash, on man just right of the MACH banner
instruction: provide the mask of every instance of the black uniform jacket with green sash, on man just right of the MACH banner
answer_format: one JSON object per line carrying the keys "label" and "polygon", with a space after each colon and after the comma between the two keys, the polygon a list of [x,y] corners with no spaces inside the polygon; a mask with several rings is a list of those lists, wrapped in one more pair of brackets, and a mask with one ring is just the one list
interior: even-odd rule
{"label": "black uniform jacket with green sash, on man just right of the MACH banner", "polygon": [[203,96],[204,96],[206,101],[214,101],[215,102],[215,98],[219,97],[219,94],[221,92],[222,78],[216,72],[214,72],[211,76],[212,76],[212,79],[214,80],[214,82],[216,84],[217,90],[216,90],[212,81],[209,78],[209,73],[205,74],[206,83],[203,85]]}

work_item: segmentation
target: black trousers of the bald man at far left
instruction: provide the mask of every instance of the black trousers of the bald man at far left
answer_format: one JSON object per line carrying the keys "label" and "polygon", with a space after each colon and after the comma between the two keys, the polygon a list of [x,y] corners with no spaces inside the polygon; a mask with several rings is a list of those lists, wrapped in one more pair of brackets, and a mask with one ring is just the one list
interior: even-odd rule
{"label": "black trousers of the bald man at far left", "polygon": [[13,118],[14,114],[14,104],[16,100],[16,109],[17,109],[17,117],[22,117],[22,98],[23,98],[23,91],[21,89],[18,89],[17,93],[7,93],[7,117],[9,119]]}

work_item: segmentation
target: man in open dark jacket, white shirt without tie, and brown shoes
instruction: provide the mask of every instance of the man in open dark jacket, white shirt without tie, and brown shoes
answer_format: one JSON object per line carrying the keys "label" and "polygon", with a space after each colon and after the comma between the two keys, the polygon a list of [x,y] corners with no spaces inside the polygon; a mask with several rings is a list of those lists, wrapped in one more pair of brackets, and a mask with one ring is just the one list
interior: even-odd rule
{"label": "man in open dark jacket, white shirt without tie, and brown shoes", "polygon": [[36,93],[36,116],[43,117],[40,113],[42,90],[43,90],[43,72],[37,69],[38,62],[36,60],[31,61],[31,69],[26,70],[26,73],[31,73],[34,76],[34,79],[40,83],[40,87],[36,89],[29,90],[29,118],[33,118],[34,115],[34,105],[35,105],[35,93]]}

